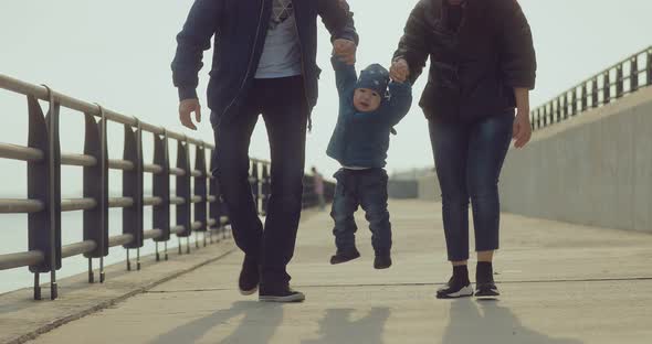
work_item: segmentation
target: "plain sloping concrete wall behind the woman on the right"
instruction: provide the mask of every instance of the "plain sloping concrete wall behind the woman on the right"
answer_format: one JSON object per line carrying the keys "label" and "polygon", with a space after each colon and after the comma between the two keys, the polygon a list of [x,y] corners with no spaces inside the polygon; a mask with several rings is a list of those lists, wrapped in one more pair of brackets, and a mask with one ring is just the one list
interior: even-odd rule
{"label": "plain sloping concrete wall behind the woman on the right", "polygon": [[501,193],[509,213],[652,233],[652,88],[536,131]]}

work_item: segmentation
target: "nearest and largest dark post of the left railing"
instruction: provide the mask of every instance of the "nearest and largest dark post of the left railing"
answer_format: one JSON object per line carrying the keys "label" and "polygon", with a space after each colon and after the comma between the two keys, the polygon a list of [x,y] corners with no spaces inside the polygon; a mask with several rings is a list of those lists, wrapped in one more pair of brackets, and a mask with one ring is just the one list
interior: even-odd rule
{"label": "nearest and largest dark post of the left railing", "polygon": [[52,90],[48,116],[33,96],[28,96],[28,146],[43,152],[44,159],[28,162],[28,196],[45,204],[45,209],[28,215],[29,249],[40,250],[44,259],[30,266],[34,273],[34,299],[41,300],[39,273],[50,272],[50,299],[57,298],[56,270],[61,268],[61,147],[59,141],[59,104]]}

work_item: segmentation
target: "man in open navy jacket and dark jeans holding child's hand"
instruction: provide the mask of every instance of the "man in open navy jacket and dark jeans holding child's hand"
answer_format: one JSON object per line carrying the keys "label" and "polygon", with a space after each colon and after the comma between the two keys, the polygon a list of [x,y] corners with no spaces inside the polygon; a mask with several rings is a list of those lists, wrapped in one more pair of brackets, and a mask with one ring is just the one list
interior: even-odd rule
{"label": "man in open navy jacket and dark jeans holding child's hand", "polygon": [[[212,173],[245,254],[240,292],[259,291],[261,301],[305,299],[290,289],[286,266],[301,215],[306,127],[317,101],[317,15],[332,34],[334,54],[354,63],[358,36],[345,0],[196,0],[177,36],[172,72],[179,116],[196,129],[191,114],[201,118],[198,72],[214,35],[208,87],[218,166]],[[264,230],[248,182],[249,143],[260,114],[272,155]]]}

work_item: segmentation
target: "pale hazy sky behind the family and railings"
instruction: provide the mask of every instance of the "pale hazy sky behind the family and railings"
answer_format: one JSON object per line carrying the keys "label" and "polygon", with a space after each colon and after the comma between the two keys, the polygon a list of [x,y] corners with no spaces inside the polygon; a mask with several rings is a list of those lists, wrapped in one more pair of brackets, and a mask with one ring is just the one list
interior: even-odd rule
{"label": "pale hazy sky behind the family and railings", "polygon": [[[387,65],[417,0],[348,1],[361,40],[358,67],[375,62]],[[533,107],[651,44],[650,0],[519,2],[533,28],[539,65]],[[198,132],[182,129],[178,122],[177,93],[171,85],[169,65],[176,49],[175,35],[191,3],[192,0],[1,0],[0,73],[34,84],[45,83],[62,93],[211,141],[206,108]],[[316,164],[327,174],[338,168],[325,154],[337,117],[329,53],[328,34],[322,26],[317,61],[324,73],[313,115],[314,130],[308,136],[306,166]],[[210,62],[209,54],[206,53],[204,62]],[[202,104],[209,69],[200,72]],[[412,110],[397,127],[399,135],[392,137],[390,172],[432,164],[427,122],[417,105],[423,85],[422,77],[416,85]],[[24,99],[0,90],[0,141],[25,144]],[[82,123],[82,116],[65,112],[64,151],[81,152]],[[111,154],[118,158],[122,129],[112,127],[109,136]],[[149,142],[147,137],[146,147]],[[269,157],[262,120],[250,152],[256,158]],[[11,175],[13,184],[23,190],[24,164],[2,161],[0,171],[3,180]],[[64,181],[69,182],[80,184],[78,180]],[[7,191],[12,186],[3,183],[2,187]]]}

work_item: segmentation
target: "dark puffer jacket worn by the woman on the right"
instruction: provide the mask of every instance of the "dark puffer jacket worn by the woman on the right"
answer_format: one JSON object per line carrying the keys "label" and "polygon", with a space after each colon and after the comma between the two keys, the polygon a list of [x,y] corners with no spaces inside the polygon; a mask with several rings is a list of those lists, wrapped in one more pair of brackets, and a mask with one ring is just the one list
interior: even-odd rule
{"label": "dark puffer jacket worn by the woman on the right", "polygon": [[414,82],[430,56],[419,105],[428,118],[474,121],[513,111],[514,88],[533,89],[536,57],[527,19],[516,0],[466,0],[459,28],[446,0],[421,0],[408,20],[395,60]]}

